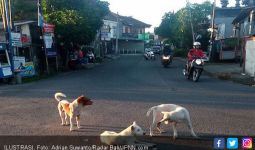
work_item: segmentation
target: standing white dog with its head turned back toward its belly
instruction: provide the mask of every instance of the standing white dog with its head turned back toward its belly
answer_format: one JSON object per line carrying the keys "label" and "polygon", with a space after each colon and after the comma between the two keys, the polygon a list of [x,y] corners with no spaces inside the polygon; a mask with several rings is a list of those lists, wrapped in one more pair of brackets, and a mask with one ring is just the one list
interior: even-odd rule
{"label": "standing white dog with its head turned back toward its belly", "polygon": [[163,131],[160,130],[160,124],[162,122],[165,122],[165,124],[168,124],[168,122],[170,122],[173,123],[174,139],[177,137],[177,123],[185,123],[190,129],[191,135],[197,137],[193,131],[189,112],[186,108],[175,104],[161,104],[151,107],[147,112],[147,117],[150,115],[151,111],[153,111],[153,121],[150,126],[151,136],[153,136],[153,128],[157,126],[159,132],[162,133]]}

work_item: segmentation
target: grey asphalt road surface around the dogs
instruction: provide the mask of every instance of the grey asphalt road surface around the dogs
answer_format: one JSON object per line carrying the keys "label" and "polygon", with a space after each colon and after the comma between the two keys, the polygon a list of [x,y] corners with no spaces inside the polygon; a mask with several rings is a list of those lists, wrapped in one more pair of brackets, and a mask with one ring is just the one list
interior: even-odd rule
{"label": "grey asphalt road surface around the dogs", "polygon": [[[33,83],[0,85],[0,135],[90,136],[104,130],[120,131],[133,121],[148,133],[152,118],[147,118],[146,112],[162,103],[186,107],[194,131],[202,139],[255,135],[254,87],[206,75],[193,83],[182,75],[183,66],[177,59],[169,68],[163,68],[158,59],[121,56],[92,69],[62,73]],[[59,91],[70,101],[82,94],[94,101],[82,112],[81,130],[70,132],[68,127],[60,126],[53,98]],[[168,137],[172,136],[172,128],[163,128],[167,131],[164,136],[172,143]],[[177,129],[179,137],[189,139],[185,125]]]}

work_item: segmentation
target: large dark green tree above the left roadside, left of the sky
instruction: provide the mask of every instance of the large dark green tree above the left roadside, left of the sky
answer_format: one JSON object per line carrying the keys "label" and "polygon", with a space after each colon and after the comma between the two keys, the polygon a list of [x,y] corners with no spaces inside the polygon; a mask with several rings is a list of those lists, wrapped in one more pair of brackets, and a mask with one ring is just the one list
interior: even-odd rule
{"label": "large dark green tree above the left roadside, left of the sky", "polygon": [[47,22],[56,25],[56,33],[65,43],[89,44],[109,13],[107,2],[100,0],[42,0]]}

